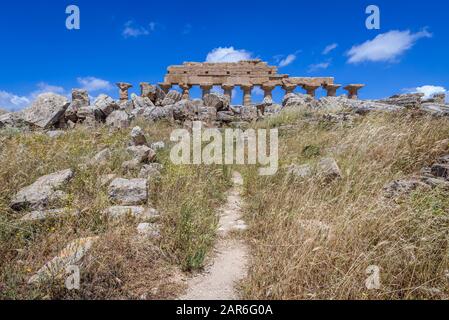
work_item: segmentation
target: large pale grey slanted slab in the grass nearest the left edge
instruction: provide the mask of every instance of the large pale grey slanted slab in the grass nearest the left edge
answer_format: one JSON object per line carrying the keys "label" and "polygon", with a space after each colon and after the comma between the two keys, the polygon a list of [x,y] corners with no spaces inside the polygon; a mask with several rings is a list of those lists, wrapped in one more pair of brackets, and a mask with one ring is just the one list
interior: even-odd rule
{"label": "large pale grey slanted slab in the grass nearest the left edge", "polygon": [[32,185],[21,189],[12,199],[11,208],[16,211],[31,208],[39,210],[47,207],[52,200],[60,198],[57,192],[73,177],[71,169],[59,171],[39,178]]}

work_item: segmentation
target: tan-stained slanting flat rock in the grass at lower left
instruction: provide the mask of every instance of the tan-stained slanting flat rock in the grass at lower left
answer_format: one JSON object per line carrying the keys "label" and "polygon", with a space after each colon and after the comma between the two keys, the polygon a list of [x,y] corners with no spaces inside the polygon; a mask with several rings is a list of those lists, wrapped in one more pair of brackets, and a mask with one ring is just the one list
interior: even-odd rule
{"label": "tan-stained slanting flat rock in the grass at lower left", "polygon": [[28,284],[39,284],[52,279],[62,278],[68,266],[79,265],[84,256],[97,241],[98,237],[77,239],[62,250],[57,257],[43,266]]}

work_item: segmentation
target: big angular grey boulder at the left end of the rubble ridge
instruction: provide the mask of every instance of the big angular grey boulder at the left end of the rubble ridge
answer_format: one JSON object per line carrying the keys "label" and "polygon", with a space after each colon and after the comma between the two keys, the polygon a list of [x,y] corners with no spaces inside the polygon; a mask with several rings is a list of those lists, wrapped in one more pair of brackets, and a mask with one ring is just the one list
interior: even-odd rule
{"label": "big angular grey boulder at the left end of the rubble ridge", "polygon": [[66,97],[54,94],[41,94],[30,108],[23,111],[23,120],[33,126],[48,129],[57,124],[69,106]]}

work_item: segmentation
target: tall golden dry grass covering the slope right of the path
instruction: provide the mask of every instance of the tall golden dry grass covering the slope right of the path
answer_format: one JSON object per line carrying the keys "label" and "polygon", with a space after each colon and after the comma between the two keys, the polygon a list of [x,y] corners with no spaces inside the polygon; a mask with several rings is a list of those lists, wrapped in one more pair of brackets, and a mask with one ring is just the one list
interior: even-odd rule
{"label": "tall golden dry grass covering the slope right of the path", "polygon": [[[449,297],[449,198],[419,190],[381,198],[391,180],[419,171],[449,151],[449,121],[413,114],[371,114],[353,126],[310,121],[290,111],[267,126],[282,133],[280,161],[334,157],[343,178],[292,182],[285,170],[244,172],[253,259],[243,283],[248,299],[439,299]],[[367,290],[369,266],[381,287]]]}

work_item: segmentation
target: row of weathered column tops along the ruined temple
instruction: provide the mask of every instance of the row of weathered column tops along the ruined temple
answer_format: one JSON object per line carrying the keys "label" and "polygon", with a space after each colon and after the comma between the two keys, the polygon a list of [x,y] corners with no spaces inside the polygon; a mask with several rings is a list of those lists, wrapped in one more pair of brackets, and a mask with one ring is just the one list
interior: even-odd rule
{"label": "row of weathered column tops along the ruined temple", "polygon": [[[132,88],[132,85],[125,82],[119,82],[117,83],[117,87],[120,89],[120,100],[128,100],[128,90]],[[172,88],[171,84],[161,83],[159,84],[159,87],[165,92],[168,93],[170,89]],[[190,98],[190,89],[192,88],[192,85],[188,84],[180,84],[179,87],[182,89],[182,99],[189,99]],[[203,84],[200,85],[200,88],[202,90],[203,98],[205,95],[209,94],[214,87],[213,84]],[[221,85],[221,88],[224,91],[224,94],[229,97],[229,99],[232,99],[232,91],[234,90],[236,86],[231,84],[223,84]],[[285,94],[293,93],[296,88],[299,87],[299,85],[296,84],[285,84],[282,86],[282,88],[285,90]],[[323,87],[324,90],[327,92],[328,97],[335,97],[337,95],[337,90],[341,88],[341,85],[339,84],[326,84],[323,86],[317,86],[317,85],[302,85],[302,88],[306,90],[307,94],[315,97],[316,90],[320,87]],[[350,84],[343,89],[348,91],[348,98],[349,99],[358,99],[358,91],[362,89],[364,85],[362,84]],[[254,88],[254,85],[240,85],[240,88],[243,91],[243,105],[247,106],[250,105],[251,102],[251,94],[252,90]],[[275,85],[262,85],[261,86],[263,92],[264,92],[264,98],[273,99],[273,90],[276,88]],[[142,89],[142,95],[145,94],[145,83],[141,84]]]}

